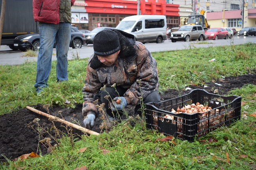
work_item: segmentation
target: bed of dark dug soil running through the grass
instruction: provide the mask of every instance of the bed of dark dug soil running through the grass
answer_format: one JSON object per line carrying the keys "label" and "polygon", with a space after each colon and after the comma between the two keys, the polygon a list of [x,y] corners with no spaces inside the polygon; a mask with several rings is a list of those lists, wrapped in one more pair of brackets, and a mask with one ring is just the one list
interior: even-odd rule
{"label": "bed of dark dug soil running through the grass", "polygon": [[[255,71],[255,70],[254,70]],[[217,84],[215,84],[217,83]],[[178,97],[180,95],[185,95],[189,93],[192,89],[204,89],[209,93],[214,93],[215,89],[218,89],[220,95],[227,94],[231,89],[241,88],[246,84],[254,84],[256,85],[256,74],[254,72],[249,72],[246,75],[238,76],[238,77],[226,77],[225,80],[216,81],[216,82],[208,82],[206,88],[202,88],[199,86],[189,86],[190,90],[168,90],[165,91],[165,94],[160,95],[161,100],[168,100],[170,98]],[[221,84],[222,86],[219,86]],[[44,113],[48,113],[53,116],[57,116],[59,118],[63,118],[69,122],[78,122],[80,125],[83,124],[82,117],[82,104],[77,104],[75,109],[73,108],[62,108],[60,106],[48,107],[46,110],[42,104],[37,104],[36,106],[31,106],[35,109],[42,111]],[[133,108],[128,107],[128,115],[133,115]],[[50,138],[51,134],[55,138],[55,130],[52,128],[53,123],[48,120],[48,118],[38,115],[32,111],[27,110],[26,108],[20,109],[14,113],[7,113],[0,116],[0,161],[5,162],[6,159],[15,159],[23,154],[29,154],[31,152],[37,152],[38,149],[38,124],[37,122],[33,122],[36,118],[39,118],[38,121],[41,128],[46,129],[46,131],[42,130],[40,135],[40,140],[43,138]],[[72,118],[72,120],[71,120]],[[96,119],[95,126],[92,131],[101,133],[102,130],[99,128],[102,120],[100,118]],[[83,135],[84,132],[81,132],[77,129],[73,128],[71,133],[70,128],[64,124],[59,122],[54,122],[55,127],[59,129],[61,132],[66,134],[75,134],[77,138]],[[60,135],[61,136],[61,135]],[[58,138],[58,137],[57,137]],[[51,139],[51,145],[56,144],[56,142]],[[42,155],[45,155],[49,152],[48,148],[44,147],[41,143],[39,143],[39,150]]]}

